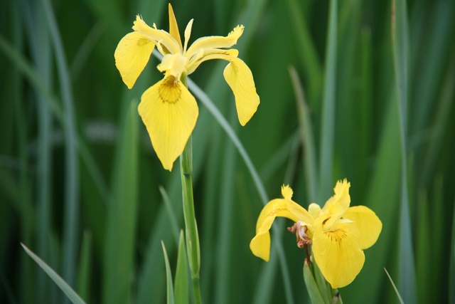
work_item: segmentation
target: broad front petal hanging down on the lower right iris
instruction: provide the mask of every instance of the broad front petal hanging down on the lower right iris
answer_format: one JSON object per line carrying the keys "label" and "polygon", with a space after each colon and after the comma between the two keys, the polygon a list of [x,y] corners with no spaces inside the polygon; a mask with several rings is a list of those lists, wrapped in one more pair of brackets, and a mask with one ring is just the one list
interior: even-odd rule
{"label": "broad front petal hanging down on the lower right iris", "polygon": [[358,246],[359,231],[353,223],[337,223],[332,228],[331,231],[321,228],[314,231],[313,255],[332,288],[341,288],[360,273],[365,255]]}

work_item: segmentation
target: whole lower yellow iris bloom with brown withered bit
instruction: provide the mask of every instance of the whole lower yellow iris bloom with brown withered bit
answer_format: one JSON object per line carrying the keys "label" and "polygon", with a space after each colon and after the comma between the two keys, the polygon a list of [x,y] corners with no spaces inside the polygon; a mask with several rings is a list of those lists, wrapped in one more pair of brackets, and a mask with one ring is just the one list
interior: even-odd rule
{"label": "whole lower yellow iris bloom with brown withered bit", "polygon": [[306,211],[292,201],[292,189],[283,185],[284,199],[269,201],[259,214],[256,236],[250,243],[252,253],[269,261],[269,229],[277,216],[284,216],[294,221],[288,230],[296,234],[297,246],[312,246],[314,261],[332,288],[350,284],[365,262],[363,249],[378,240],[382,222],[365,206],[349,206],[349,187],[346,179],[338,181],[335,195],[322,209],[318,204],[310,204]]}

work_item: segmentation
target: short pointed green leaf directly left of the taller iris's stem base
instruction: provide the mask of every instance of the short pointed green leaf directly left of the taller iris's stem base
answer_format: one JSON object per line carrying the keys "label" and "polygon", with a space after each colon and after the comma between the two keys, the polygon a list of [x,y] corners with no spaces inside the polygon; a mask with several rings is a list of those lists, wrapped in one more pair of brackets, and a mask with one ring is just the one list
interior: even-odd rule
{"label": "short pointed green leaf directly left of the taller iris's stem base", "polygon": [[176,304],[188,304],[188,262],[186,261],[185,236],[183,230],[180,231],[178,241],[178,256],[176,278],[174,281],[174,300]]}

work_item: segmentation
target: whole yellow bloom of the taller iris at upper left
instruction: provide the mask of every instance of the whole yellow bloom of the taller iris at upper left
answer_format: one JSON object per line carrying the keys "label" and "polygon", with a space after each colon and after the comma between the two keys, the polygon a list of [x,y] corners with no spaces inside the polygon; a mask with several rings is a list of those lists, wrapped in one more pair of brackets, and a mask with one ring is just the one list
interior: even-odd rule
{"label": "whole yellow bloom of the taller iris at upper left", "polygon": [[[228,36],[208,36],[196,39],[188,47],[193,19],[186,26],[182,45],[176,17],[169,4],[169,31],[148,26],[138,15],[133,32],[119,42],[115,50],[115,65],[128,88],[132,88],[149,61],[155,46],[163,55],[157,66],[164,78],[141,96],[139,115],[151,139],[151,144],[164,169],[171,171],[173,162],[183,152],[196,126],[198,104],[186,88],[186,76],[210,59],[228,61],[223,75],[235,95],[240,125],[245,125],[257,110],[259,95],[250,68],[237,58],[236,49],[226,49],[237,43],[243,26],[236,26]],[[182,80],[185,82],[183,83]]]}

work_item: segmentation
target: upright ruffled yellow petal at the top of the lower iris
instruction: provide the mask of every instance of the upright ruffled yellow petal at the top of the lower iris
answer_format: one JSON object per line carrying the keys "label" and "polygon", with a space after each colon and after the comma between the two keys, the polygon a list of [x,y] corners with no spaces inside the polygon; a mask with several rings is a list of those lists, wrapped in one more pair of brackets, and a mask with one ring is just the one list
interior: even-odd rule
{"label": "upright ruffled yellow petal at the top of the lower iris", "polygon": [[344,212],[349,208],[350,196],[349,196],[350,183],[344,179],[343,182],[336,182],[336,186],[333,189],[335,195],[333,195],[321,210],[321,216],[325,216],[324,229],[330,229],[330,227],[343,216]]}

